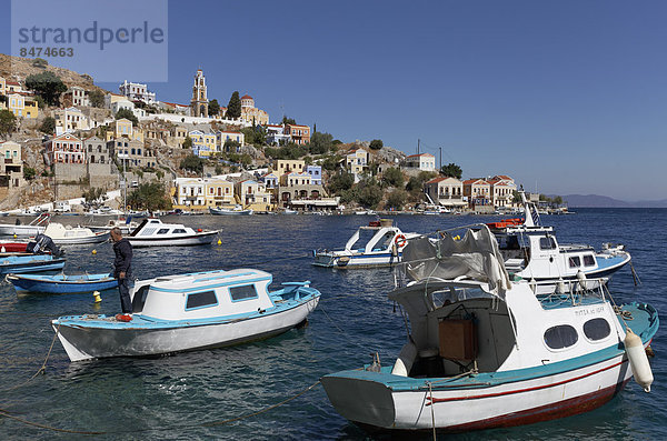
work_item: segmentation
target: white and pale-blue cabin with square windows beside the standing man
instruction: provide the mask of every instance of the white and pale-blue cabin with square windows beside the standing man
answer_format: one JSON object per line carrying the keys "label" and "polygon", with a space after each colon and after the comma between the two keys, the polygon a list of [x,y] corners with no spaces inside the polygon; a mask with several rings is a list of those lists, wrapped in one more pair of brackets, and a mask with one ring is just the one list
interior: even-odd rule
{"label": "white and pale-blue cabin with square windows beside the standing man", "polygon": [[137,282],[132,312],[160,320],[233,317],[273,307],[268,272],[206,271]]}

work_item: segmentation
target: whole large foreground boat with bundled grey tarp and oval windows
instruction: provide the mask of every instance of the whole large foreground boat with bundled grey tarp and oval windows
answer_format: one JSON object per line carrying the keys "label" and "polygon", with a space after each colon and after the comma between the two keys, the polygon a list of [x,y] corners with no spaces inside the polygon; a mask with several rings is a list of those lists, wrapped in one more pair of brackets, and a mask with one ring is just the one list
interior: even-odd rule
{"label": "whole large foreground boat with bundled grey tarp and oval windows", "polygon": [[[427,257],[432,248],[439,253]],[[633,375],[650,390],[644,349],[658,329],[653,307],[616,310],[603,283],[536,295],[528,281],[510,281],[486,228],[437,244],[411,241],[404,257],[407,278],[389,299],[410,327],[396,361],[382,365],[376,355],[321,379],[334,408],[358,425],[461,432],[529,424],[595,409]]]}

